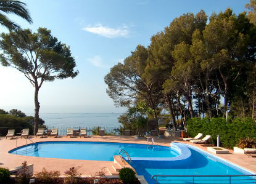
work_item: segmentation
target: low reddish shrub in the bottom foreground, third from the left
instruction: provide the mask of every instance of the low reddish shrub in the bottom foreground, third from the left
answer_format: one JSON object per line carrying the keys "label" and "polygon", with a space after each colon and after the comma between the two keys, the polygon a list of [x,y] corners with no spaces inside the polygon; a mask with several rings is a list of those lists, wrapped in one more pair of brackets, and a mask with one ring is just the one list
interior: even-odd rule
{"label": "low reddish shrub in the bottom foreground, third from the left", "polygon": [[58,183],[60,172],[57,170],[47,171],[45,168],[35,174],[39,183]]}

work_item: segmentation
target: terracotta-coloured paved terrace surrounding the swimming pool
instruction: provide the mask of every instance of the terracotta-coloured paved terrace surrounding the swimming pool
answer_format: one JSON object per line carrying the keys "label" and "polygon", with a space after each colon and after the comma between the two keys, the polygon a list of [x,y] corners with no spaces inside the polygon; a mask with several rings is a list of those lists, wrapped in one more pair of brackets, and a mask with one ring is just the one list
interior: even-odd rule
{"label": "terracotta-coloured paved terrace surrounding the swimming pool", "polygon": [[[133,136],[89,136],[89,137],[57,137],[57,138],[39,138],[30,137],[33,142],[44,142],[44,141],[85,141],[85,142],[121,142],[121,143],[141,143],[146,144],[146,140],[138,140]],[[37,158],[31,156],[20,156],[15,154],[9,154],[8,151],[16,148],[17,146],[26,145],[26,138],[14,138],[9,139],[5,137],[0,138],[0,167],[7,167],[12,169],[14,167],[21,166],[23,161],[27,161],[28,164],[34,164],[34,172],[41,171],[43,167],[47,170],[60,170],[61,174],[64,174],[65,170],[68,170],[72,166],[80,166],[80,172],[83,175],[94,175],[104,167],[110,167],[111,161],[84,161],[75,159],[56,159],[56,158]],[[189,145],[197,146],[201,150],[207,151],[207,146],[197,145],[189,142],[183,142],[181,138],[165,138],[159,139],[154,138],[155,144],[162,146],[170,146],[171,141],[187,143]],[[28,143],[31,143],[28,140]],[[104,151],[104,150],[102,150]],[[209,151],[207,151],[209,152]],[[244,167],[247,170],[256,172],[256,158],[251,156],[248,158],[245,154],[235,154],[232,150],[229,150],[229,154],[217,154],[220,158],[226,159],[229,162],[233,162],[238,166]],[[210,153],[210,152],[209,152]],[[212,153],[214,154],[214,153]],[[107,174],[107,172],[106,172]]]}

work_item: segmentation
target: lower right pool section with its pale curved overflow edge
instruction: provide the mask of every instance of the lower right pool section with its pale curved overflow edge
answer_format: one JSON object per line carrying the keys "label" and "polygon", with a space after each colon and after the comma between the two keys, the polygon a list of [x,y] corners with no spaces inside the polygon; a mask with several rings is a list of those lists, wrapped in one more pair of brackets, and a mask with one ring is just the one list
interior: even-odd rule
{"label": "lower right pool section with its pale curved overflow edge", "polygon": [[[183,147],[186,147],[185,149]],[[251,175],[254,174],[247,170],[237,167],[234,164],[226,162],[212,154],[199,150],[198,148],[183,143],[171,143],[171,147],[181,149],[186,153],[181,153],[175,158],[170,158],[165,161],[162,159],[152,160],[133,160],[131,166],[136,170],[138,175],[143,175],[148,183],[192,183],[192,177],[157,177],[152,179],[152,175]],[[189,154],[188,154],[189,153]],[[186,156],[184,156],[184,154]],[[201,177],[196,178],[195,183],[214,183],[209,180],[216,180],[216,178]],[[217,178],[218,179],[218,178]],[[216,183],[229,183],[229,177],[221,177],[219,179],[226,179],[226,181],[215,181]],[[232,183],[252,182],[252,177],[233,177]],[[254,182],[255,183],[255,177]],[[170,181],[172,180],[172,181]],[[183,180],[183,181],[177,181]],[[199,181],[200,180],[200,181]]]}

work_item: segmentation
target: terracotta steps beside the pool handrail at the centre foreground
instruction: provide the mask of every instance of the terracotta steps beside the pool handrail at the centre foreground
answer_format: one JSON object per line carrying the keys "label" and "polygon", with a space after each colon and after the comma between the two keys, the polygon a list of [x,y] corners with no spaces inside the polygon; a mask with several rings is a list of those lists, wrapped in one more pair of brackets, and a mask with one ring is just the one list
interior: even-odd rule
{"label": "terracotta steps beside the pool handrail at the centre foreground", "polygon": [[119,170],[123,167],[130,167],[133,169],[128,162],[123,162],[120,156],[114,155],[114,162],[111,164],[111,166],[107,167],[107,171],[109,172],[109,175],[118,175]]}

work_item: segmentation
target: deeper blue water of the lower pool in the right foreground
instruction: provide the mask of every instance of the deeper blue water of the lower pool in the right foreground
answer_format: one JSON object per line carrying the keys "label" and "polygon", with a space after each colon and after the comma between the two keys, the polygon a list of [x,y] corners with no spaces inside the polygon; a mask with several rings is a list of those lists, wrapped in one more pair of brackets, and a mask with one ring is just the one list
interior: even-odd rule
{"label": "deeper blue water of the lower pool in the right foreground", "polygon": [[[236,170],[233,167],[229,167],[226,164],[223,164],[217,161],[210,156],[206,156],[201,154],[191,148],[191,157],[185,160],[179,161],[133,161],[131,162],[131,166],[136,170],[138,175],[144,175],[145,179],[148,183],[156,183],[155,179],[151,178],[152,175],[244,175],[249,174],[242,170]],[[250,177],[233,177],[236,179],[238,183],[241,183],[241,179],[249,179],[244,180],[243,182],[251,182]],[[192,183],[192,177],[158,177],[159,183]],[[168,181],[167,181],[168,179]],[[173,181],[170,181],[173,180]],[[183,179],[182,182],[176,181]],[[208,180],[216,180],[221,179],[223,183],[229,183],[229,177],[197,177],[194,180],[205,180],[205,181],[197,181],[195,183],[214,183],[213,181],[209,182]],[[207,180],[208,179],[208,180]],[[187,180],[187,181],[184,181]],[[226,180],[226,181],[224,181]],[[254,180],[254,183],[256,180]],[[217,181],[216,183],[220,183]],[[234,182],[233,182],[234,183]]]}

